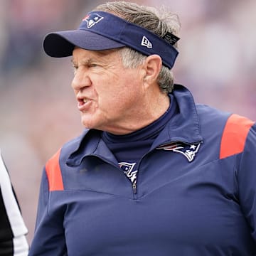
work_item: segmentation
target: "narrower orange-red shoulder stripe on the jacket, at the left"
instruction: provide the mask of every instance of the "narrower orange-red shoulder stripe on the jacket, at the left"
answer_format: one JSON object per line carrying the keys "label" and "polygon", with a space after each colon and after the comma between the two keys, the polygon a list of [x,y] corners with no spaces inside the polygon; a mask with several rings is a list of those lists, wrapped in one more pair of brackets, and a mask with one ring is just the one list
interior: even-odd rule
{"label": "narrower orange-red shoulder stripe on the jacket, at the left", "polygon": [[62,191],[63,178],[60,171],[60,149],[58,152],[46,163],[46,174],[49,182],[49,191]]}

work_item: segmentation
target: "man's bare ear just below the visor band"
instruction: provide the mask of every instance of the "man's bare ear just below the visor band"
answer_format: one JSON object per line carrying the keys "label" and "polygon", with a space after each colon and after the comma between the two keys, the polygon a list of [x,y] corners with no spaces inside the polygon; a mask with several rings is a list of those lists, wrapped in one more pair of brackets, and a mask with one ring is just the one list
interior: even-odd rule
{"label": "man's bare ear just below the visor band", "polygon": [[162,67],[161,57],[159,55],[153,54],[149,55],[144,61],[144,82],[150,85],[156,82],[158,75]]}

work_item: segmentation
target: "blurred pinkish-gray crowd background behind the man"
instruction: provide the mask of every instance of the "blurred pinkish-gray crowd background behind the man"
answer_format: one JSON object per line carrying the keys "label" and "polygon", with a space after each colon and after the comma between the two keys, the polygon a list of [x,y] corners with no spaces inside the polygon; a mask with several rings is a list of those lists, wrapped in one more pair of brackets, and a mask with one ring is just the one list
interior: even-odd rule
{"label": "blurred pinkish-gray crowd background behind the man", "polygon": [[[77,28],[104,1],[0,1],[0,147],[14,183],[28,241],[33,238],[43,166],[82,132],[70,58],[46,56],[50,31]],[[181,19],[174,68],[196,102],[256,119],[255,0],[134,0],[169,6]],[[0,177],[1,178],[1,177]]]}

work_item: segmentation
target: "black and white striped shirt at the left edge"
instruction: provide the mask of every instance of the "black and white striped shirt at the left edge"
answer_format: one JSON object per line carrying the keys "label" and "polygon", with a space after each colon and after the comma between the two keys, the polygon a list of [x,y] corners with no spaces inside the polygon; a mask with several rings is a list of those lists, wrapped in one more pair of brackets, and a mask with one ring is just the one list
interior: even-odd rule
{"label": "black and white striped shirt at the left edge", "polygon": [[28,255],[28,230],[0,151],[0,256]]}

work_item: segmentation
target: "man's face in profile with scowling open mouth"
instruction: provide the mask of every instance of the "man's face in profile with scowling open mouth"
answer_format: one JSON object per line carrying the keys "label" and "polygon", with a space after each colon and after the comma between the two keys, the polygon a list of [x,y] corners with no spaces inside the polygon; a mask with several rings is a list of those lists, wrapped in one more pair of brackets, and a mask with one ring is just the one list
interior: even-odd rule
{"label": "man's face in profile with scowling open mouth", "polygon": [[72,87],[82,124],[114,134],[130,130],[142,100],[142,68],[124,68],[117,50],[73,50]]}

